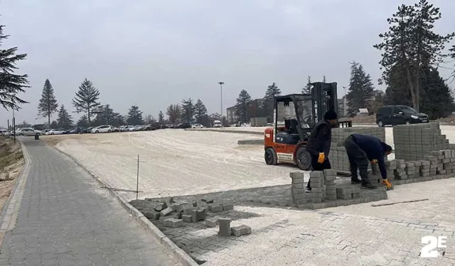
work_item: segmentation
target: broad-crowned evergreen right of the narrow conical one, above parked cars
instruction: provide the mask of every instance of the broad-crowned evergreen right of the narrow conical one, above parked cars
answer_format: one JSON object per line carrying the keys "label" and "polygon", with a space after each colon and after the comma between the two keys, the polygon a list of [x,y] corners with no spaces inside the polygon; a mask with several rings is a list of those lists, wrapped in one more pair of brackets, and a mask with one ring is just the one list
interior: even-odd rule
{"label": "broad-crowned evergreen right of the narrow conical one, above parked cars", "polygon": [[75,106],[77,113],[87,113],[88,123],[91,123],[91,118],[94,115],[93,111],[100,106],[100,92],[92,82],[87,78],[84,79],[82,84],[79,86],[79,91],[76,92],[76,96],[73,98],[73,106]]}

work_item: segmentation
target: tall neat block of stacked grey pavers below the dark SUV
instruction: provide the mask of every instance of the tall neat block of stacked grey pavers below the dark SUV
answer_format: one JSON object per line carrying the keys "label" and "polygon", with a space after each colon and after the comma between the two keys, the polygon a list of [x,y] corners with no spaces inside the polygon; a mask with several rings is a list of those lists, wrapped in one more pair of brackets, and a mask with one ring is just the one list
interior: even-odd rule
{"label": "tall neat block of stacked grey pavers below the dark SUV", "polygon": [[395,159],[423,160],[433,150],[449,149],[449,140],[441,135],[439,123],[400,125],[393,128]]}

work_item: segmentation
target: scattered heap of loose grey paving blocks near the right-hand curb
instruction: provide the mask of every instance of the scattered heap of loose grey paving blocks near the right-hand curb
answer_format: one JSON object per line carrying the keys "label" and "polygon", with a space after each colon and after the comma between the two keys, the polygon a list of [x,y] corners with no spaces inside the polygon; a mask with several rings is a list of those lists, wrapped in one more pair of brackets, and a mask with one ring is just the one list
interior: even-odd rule
{"label": "scattered heap of loose grey paving blocks near the right-hand curb", "polygon": [[208,213],[220,213],[234,209],[234,204],[216,204],[213,200],[194,201],[174,201],[171,197],[168,201],[153,201],[153,199],[134,200],[130,202],[146,218],[152,221],[159,221],[164,227],[177,228],[184,223],[198,223],[203,221],[206,226],[214,228],[219,226],[218,235],[220,236],[240,236],[251,233],[250,226],[241,225],[230,227],[231,219],[214,216],[208,218]]}

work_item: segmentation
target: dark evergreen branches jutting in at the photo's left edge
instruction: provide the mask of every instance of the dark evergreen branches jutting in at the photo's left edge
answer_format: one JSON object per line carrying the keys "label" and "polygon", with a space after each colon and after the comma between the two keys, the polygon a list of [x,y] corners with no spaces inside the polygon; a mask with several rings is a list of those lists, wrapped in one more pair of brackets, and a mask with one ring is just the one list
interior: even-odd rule
{"label": "dark evergreen branches jutting in at the photo's left edge", "polygon": [[4,25],[0,25],[0,105],[4,109],[18,110],[19,104],[28,104],[17,96],[19,92],[25,92],[28,88],[28,75],[14,74],[14,71],[18,69],[16,64],[25,60],[27,54],[16,55],[17,47],[9,49],[1,49],[1,46],[9,35],[3,33]]}

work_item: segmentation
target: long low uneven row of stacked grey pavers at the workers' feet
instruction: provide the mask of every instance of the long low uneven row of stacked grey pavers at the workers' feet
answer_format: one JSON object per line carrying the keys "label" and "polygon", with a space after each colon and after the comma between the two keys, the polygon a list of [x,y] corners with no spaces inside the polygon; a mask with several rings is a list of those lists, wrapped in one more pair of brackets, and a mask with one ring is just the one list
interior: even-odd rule
{"label": "long low uneven row of stacked grey pavers at the workers' feet", "polygon": [[[424,160],[389,160],[385,162],[387,179],[392,184],[410,184],[455,177],[455,150],[434,150]],[[380,182],[378,166],[372,167],[369,178]],[[291,194],[294,206],[301,209],[323,209],[387,199],[384,186],[360,189],[358,184],[336,184],[336,170],[313,171],[310,174],[311,192],[305,192],[304,172],[291,172]]]}

